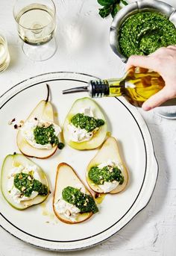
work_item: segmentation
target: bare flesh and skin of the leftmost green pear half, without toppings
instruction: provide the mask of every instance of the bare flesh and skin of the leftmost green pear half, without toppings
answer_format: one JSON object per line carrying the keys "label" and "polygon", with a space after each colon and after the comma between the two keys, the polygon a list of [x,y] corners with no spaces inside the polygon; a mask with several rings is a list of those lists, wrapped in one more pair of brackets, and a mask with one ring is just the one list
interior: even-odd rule
{"label": "bare flesh and skin of the leftmost green pear half, without toppings", "polygon": [[[10,193],[7,190],[8,181],[9,181],[8,177],[9,177],[10,170],[20,165],[27,166],[27,165],[37,165],[37,164],[32,162],[22,154],[8,154],[7,157],[5,157],[4,159],[4,163],[1,169],[1,193],[4,196],[4,199],[6,199],[6,201],[11,206],[16,208],[17,210],[25,210],[26,208],[32,205],[38,205],[42,203],[43,201],[45,201],[48,195],[46,196],[38,195],[34,199],[31,199],[28,201],[22,201],[20,202],[20,204],[17,204],[16,202],[13,201],[13,198],[10,196]],[[40,182],[45,184],[48,187],[48,181],[45,176],[45,173],[40,168],[40,166],[37,166],[37,167],[38,167],[38,170],[37,170],[38,174],[40,175],[40,180],[41,180]]]}

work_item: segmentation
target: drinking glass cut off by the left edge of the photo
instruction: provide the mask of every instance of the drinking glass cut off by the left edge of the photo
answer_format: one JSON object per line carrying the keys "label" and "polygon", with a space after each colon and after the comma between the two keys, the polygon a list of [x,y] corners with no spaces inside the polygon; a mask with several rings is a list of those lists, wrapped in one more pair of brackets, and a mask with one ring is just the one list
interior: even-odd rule
{"label": "drinking glass cut off by the left edge of the photo", "polygon": [[0,72],[7,69],[10,63],[10,55],[7,46],[6,37],[0,32]]}

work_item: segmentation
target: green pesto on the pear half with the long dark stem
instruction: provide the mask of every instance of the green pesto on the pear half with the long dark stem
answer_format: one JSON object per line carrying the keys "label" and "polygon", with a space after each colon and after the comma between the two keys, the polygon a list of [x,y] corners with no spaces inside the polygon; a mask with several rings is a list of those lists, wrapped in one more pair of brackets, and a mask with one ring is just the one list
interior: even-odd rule
{"label": "green pesto on the pear half with the long dark stem", "polygon": [[[45,125],[37,125],[34,128],[34,139],[37,144],[46,145],[50,143],[52,146],[60,146],[58,137],[54,134],[54,125],[51,124],[48,127]],[[62,143],[63,144],[63,143]]]}

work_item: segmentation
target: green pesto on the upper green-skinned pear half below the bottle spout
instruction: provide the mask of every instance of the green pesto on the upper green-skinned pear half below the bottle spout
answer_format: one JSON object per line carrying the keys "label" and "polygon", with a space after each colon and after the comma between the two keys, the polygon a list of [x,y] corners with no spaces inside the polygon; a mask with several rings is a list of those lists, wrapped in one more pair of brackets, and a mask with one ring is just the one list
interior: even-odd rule
{"label": "green pesto on the upper green-skinned pear half below the bottle spout", "polygon": [[83,113],[77,113],[72,117],[71,122],[75,127],[85,129],[87,132],[91,132],[95,130],[95,128],[104,125],[104,120],[95,119],[92,116],[85,116]]}

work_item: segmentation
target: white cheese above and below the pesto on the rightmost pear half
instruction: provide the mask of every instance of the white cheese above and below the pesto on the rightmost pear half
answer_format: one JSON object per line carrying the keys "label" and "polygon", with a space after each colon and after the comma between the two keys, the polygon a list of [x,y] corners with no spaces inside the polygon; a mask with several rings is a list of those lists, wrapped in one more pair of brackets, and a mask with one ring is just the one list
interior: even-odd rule
{"label": "white cheese above and below the pesto on the rightmost pear half", "polygon": [[[112,166],[112,167],[115,167],[117,166],[120,170],[122,170],[122,164],[121,163],[116,163],[116,161],[114,160],[107,160],[107,162],[103,162],[103,163],[100,163],[98,165],[98,168],[99,169],[103,169],[105,166]],[[104,193],[108,193],[114,189],[116,189],[116,187],[119,185],[119,181],[112,181],[112,182],[107,182],[107,181],[104,181],[104,184],[102,185],[98,185],[98,187],[101,188],[101,190],[103,190]]]}

